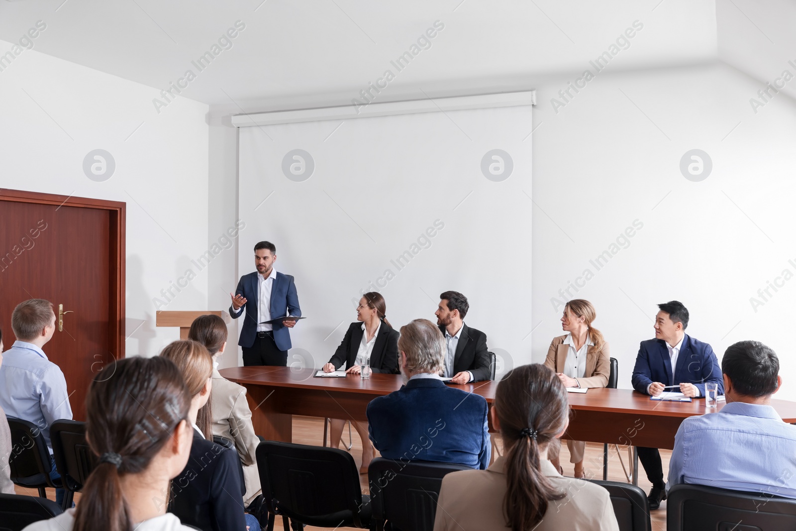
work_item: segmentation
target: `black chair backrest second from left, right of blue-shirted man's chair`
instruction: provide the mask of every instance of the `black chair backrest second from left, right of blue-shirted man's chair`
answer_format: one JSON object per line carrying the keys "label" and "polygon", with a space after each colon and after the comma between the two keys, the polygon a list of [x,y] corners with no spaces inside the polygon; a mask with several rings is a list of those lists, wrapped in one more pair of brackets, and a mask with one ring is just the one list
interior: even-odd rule
{"label": "black chair backrest second from left, right of blue-shirted man's chair", "polygon": [[56,420],[50,426],[53,459],[64,487],[80,491],[97,465],[97,456],[86,442],[86,423],[79,420]]}

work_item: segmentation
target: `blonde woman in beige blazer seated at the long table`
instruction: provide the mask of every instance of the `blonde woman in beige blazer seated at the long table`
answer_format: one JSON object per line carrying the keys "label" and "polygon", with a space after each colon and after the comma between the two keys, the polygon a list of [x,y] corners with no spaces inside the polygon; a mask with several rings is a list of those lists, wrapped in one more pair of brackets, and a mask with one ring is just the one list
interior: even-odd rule
{"label": "blonde woman in beige blazer seated at the long table", "polygon": [[[561,328],[567,335],[552,340],[544,365],[556,372],[564,387],[605,387],[611,373],[611,355],[603,334],[591,327],[597,313],[587,300],[572,299],[564,306]],[[575,477],[584,478],[583,452],[586,443],[567,440],[569,462],[575,464]],[[559,462],[561,443],[554,441],[548,448],[548,459],[556,470],[564,470]]]}

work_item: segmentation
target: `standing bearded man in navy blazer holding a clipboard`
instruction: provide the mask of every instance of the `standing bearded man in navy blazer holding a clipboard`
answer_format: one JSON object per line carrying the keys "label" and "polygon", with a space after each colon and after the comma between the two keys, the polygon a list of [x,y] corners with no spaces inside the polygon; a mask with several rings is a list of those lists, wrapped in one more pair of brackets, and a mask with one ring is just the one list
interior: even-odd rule
{"label": "standing bearded man in navy blazer holding a clipboard", "polygon": [[278,273],[274,268],[276,247],[269,241],[254,246],[257,271],[240,277],[229,314],[233,319],[244,314],[238,345],[244,350],[245,365],[287,365],[287,351],[291,349],[290,330],[295,320],[263,323],[275,318],[301,317],[298,293],[291,275]]}

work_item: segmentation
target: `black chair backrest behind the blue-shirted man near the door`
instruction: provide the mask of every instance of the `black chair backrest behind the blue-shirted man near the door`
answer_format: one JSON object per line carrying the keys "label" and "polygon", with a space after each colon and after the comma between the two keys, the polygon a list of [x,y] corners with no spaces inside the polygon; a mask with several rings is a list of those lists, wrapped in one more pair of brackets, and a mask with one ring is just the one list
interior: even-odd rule
{"label": "black chair backrest behind the blue-shirted man near the door", "polygon": [[8,464],[11,470],[11,481],[19,486],[29,488],[60,487],[50,479],[49,449],[44,434],[36,424],[28,420],[8,417],[11,429],[11,455]]}

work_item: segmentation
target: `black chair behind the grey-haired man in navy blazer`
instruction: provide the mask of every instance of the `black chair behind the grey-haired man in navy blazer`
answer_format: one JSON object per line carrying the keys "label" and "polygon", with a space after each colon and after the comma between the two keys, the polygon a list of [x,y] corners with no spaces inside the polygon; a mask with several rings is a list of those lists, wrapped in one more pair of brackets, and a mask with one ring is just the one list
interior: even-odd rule
{"label": "black chair behind the grey-haired man in navy blazer", "polygon": [[464,465],[377,457],[368,467],[370,502],[377,531],[432,531],[445,474]]}

